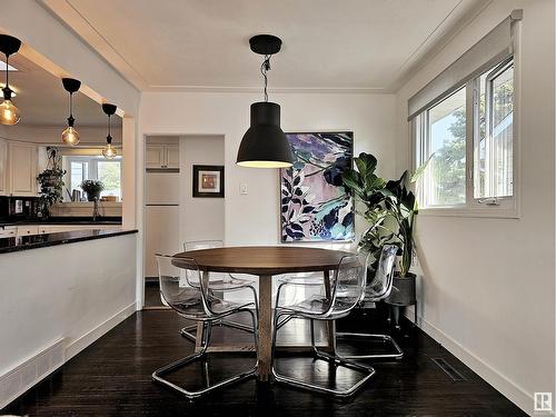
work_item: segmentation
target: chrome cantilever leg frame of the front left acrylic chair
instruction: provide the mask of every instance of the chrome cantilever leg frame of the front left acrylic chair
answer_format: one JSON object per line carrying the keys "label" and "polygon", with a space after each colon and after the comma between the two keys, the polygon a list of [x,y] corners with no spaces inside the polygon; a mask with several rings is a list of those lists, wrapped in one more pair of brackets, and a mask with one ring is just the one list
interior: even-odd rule
{"label": "chrome cantilever leg frame of the front left acrylic chair", "polygon": [[[254,328],[257,328],[257,321],[256,321],[255,314],[252,311],[249,311],[249,312],[252,317],[252,326],[254,326]],[[248,369],[247,371],[234,375],[227,379],[221,380],[220,383],[217,383],[215,385],[209,385],[206,388],[202,388],[202,389],[199,389],[196,391],[187,390],[187,389],[179,387],[176,384],[169,381],[168,379],[163,378],[165,375],[168,375],[168,374],[170,374],[170,373],[172,373],[172,371],[175,371],[175,370],[177,370],[177,369],[179,369],[188,364],[191,364],[191,363],[197,361],[197,360],[206,360],[207,349],[208,349],[208,346],[210,342],[211,329],[212,329],[212,324],[210,321],[207,321],[203,326],[202,344],[201,344],[201,350],[199,353],[190,355],[186,358],[176,360],[169,365],[166,365],[166,366],[155,370],[152,373],[152,380],[183,394],[189,399],[195,399],[195,398],[198,398],[198,397],[202,396],[203,394],[207,394],[207,393],[212,391],[215,389],[219,389],[219,388],[222,388],[225,386],[236,384],[236,383],[242,381],[247,378],[254,377],[256,371],[257,371],[258,363],[256,363],[255,366],[252,368]],[[255,335],[255,344],[257,346],[257,332],[254,332],[254,335]],[[209,383],[207,367],[203,368],[203,376],[205,376],[205,379],[207,380],[207,383]]]}

